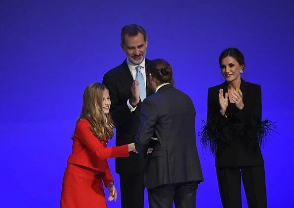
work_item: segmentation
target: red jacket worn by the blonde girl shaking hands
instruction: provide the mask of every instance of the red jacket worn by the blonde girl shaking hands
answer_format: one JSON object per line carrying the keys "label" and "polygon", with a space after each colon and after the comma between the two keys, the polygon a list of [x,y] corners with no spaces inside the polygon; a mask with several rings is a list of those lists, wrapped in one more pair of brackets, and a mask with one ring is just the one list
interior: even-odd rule
{"label": "red jacket worn by the blonde girl shaking hands", "polygon": [[101,172],[104,185],[113,182],[107,159],[129,156],[128,145],[107,148],[107,142],[100,141],[90,130],[86,119],[78,121],[73,137],[73,153],[67,163],[83,165]]}

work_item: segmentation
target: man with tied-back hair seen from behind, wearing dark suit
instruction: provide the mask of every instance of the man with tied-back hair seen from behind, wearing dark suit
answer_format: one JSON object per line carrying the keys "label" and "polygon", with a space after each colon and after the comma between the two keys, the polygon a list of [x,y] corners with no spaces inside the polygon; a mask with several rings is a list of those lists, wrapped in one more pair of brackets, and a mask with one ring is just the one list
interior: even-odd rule
{"label": "man with tied-back hair seen from behind, wearing dark suit", "polygon": [[[141,106],[135,147],[146,157],[151,141],[154,146],[144,175],[149,207],[172,208],[174,202],[176,208],[195,208],[203,175],[196,148],[194,104],[173,87],[167,61],[154,59],[146,70],[147,88],[155,93]],[[154,140],[158,140],[155,145]]]}

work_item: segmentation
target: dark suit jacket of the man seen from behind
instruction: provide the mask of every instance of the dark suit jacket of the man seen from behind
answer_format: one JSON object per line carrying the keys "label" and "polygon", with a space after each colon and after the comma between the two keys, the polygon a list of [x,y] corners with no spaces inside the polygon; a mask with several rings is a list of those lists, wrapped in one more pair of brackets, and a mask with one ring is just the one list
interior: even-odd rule
{"label": "dark suit jacket of the man seen from behind", "polygon": [[190,97],[171,85],[161,87],[143,101],[141,124],[135,138],[137,152],[146,156],[150,137],[158,138],[146,166],[147,188],[203,181],[196,148],[195,116]]}

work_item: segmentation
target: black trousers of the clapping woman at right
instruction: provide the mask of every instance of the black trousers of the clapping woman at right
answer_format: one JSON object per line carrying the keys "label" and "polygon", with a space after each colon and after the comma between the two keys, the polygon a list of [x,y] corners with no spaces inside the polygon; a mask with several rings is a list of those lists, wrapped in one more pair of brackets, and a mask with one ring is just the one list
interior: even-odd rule
{"label": "black trousers of the clapping woman at right", "polygon": [[264,166],[216,168],[223,208],[242,208],[241,177],[248,208],[266,208]]}

